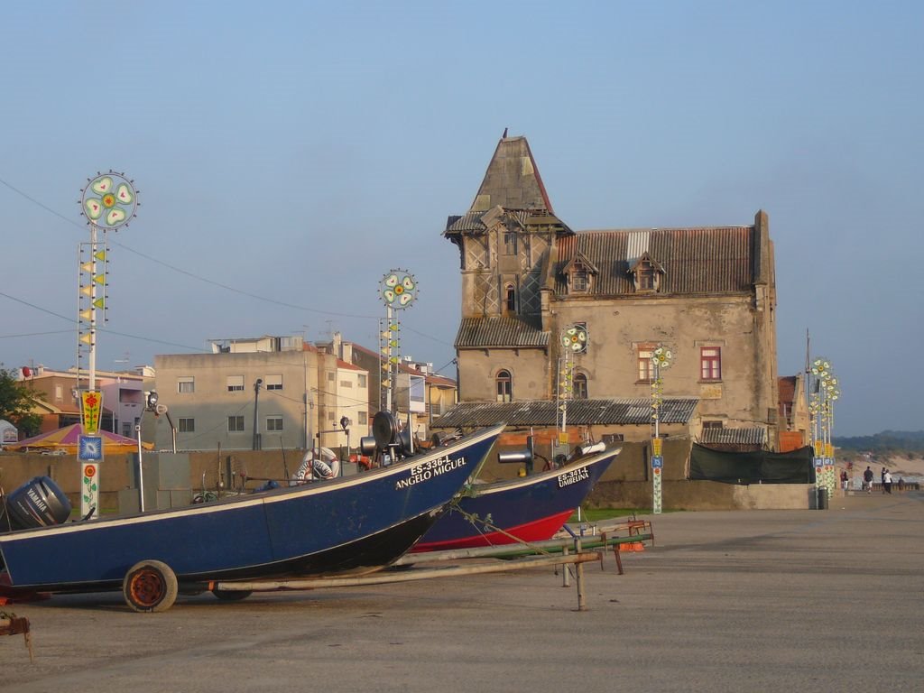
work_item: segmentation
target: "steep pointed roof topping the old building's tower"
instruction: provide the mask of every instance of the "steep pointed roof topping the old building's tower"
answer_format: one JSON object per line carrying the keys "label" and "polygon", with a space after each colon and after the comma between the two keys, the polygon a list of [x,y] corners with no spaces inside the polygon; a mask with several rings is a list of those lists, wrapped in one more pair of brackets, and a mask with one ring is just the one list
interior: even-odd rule
{"label": "steep pointed roof topping the old building's tower", "polygon": [[545,210],[554,213],[542,185],[536,160],[525,137],[504,137],[488,164],[481,187],[471,203],[471,212],[487,212],[501,206],[506,210]]}

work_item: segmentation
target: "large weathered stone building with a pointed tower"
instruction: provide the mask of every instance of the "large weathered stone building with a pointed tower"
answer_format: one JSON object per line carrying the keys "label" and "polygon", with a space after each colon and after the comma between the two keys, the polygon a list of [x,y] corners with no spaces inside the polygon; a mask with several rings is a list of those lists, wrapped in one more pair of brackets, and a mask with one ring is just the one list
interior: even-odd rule
{"label": "large weathered stone building with a pointed tower", "polygon": [[[776,448],[766,213],[753,225],[577,233],[553,212],[527,140],[505,137],[444,237],[461,261],[461,403],[441,425],[554,427],[554,403],[572,399],[569,424],[643,440],[651,352],[665,346],[673,359],[663,371],[662,433]],[[589,344],[569,362],[562,337],[576,325]]]}

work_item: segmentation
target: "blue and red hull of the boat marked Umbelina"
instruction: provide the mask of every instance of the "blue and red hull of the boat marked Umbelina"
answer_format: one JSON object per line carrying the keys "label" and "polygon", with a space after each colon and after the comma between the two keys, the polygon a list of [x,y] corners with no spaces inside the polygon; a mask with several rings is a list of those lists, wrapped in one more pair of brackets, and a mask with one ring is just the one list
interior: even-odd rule
{"label": "blue and red hull of the boat marked Umbelina", "polygon": [[[606,451],[574,465],[522,479],[475,484],[473,495],[465,495],[450,505],[411,551],[445,551],[551,539],[575,508],[584,502],[618,454],[618,449]],[[486,528],[468,516],[487,520],[502,531]]]}

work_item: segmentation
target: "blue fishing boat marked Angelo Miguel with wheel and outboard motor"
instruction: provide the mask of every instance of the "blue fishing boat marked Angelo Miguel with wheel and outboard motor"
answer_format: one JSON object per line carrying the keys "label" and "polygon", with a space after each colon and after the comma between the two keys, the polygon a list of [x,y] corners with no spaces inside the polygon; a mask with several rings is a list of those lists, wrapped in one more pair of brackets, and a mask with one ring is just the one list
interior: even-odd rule
{"label": "blue fishing boat marked Angelo Miguel with wheel and outboard motor", "polygon": [[[387,466],[334,480],[8,531],[0,534],[0,567],[6,570],[0,584],[48,592],[121,589],[131,608],[150,612],[169,608],[177,593],[213,590],[210,583],[218,580],[378,570],[431,528],[477,474],[503,428],[418,455],[403,455],[393,443]],[[51,499],[26,495],[31,509],[19,515],[33,515],[41,524],[47,510],[41,505]],[[247,595],[213,591],[224,599]]]}

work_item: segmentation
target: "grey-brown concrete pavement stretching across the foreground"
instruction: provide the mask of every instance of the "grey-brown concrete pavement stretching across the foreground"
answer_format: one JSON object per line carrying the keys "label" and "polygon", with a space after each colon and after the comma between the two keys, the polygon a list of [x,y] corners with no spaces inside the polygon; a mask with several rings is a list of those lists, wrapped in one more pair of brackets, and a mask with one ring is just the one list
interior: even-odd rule
{"label": "grey-brown concrete pavement stretching across the foreground", "polygon": [[[119,594],[3,607],[0,689],[918,691],[924,493],[828,510],[667,513],[656,545],[589,564],[588,610],[546,569],[346,590]],[[572,582],[573,584],[573,582]]]}

